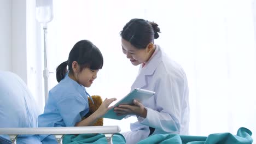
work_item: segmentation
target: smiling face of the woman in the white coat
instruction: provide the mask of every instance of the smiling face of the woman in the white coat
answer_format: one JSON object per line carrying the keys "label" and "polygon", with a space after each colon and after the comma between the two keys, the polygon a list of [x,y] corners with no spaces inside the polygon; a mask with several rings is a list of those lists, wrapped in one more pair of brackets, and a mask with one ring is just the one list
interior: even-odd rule
{"label": "smiling face of the woman in the white coat", "polygon": [[129,41],[122,39],[122,49],[123,53],[127,58],[130,59],[130,62],[133,65],[139,65],[143,62],[146,62],[148,59],[146,49],[137,49]]}

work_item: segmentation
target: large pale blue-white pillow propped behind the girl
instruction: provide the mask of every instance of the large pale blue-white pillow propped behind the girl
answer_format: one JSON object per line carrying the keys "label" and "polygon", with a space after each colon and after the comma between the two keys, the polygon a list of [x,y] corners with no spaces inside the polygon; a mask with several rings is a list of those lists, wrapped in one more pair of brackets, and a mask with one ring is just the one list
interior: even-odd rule
{"label": "large pale blue-white pillow propped behind the girl", "polygon": [[0,70],[0,128],[38,127],[38,115],[36,101],[26,83],[18,75]]}

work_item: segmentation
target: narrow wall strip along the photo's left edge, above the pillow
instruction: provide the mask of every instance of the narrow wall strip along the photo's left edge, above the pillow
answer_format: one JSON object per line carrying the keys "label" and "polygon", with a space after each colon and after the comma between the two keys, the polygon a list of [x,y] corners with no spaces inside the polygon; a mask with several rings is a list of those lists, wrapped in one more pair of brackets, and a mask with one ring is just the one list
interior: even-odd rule
{"label": "narrow wall strip along the photo's left edge, above the pillow", "polygon": [[0,70],[12,70],[11,59],[11,2],[0,0]]}

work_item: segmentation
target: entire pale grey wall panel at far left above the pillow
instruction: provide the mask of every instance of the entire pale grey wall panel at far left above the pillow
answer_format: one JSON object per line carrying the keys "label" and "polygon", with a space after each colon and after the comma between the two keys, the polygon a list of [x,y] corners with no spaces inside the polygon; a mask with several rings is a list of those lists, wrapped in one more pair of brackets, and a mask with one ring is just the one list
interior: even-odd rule
{"label": "entire pale grey wall panel at far left above the pillow", "polygon": [[0,69],[27,83],[26,0],[1,0],[0,17]]}

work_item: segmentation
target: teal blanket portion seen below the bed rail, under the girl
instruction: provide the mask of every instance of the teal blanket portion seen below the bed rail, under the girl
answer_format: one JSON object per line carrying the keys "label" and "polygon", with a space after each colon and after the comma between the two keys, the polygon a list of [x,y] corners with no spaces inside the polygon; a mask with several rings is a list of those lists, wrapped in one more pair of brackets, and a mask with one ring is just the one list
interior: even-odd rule
{"label": "teal blanket portion seen below the bed rail, under the girl", "polygon": [[[125,138],[121,134],[114,134],[112,142],[117,144],[124,144]],[[103,134],[80,134],[80,135],[65,135],[63,137],[63,144],[97,144],[107,143],[107,139]]]}

